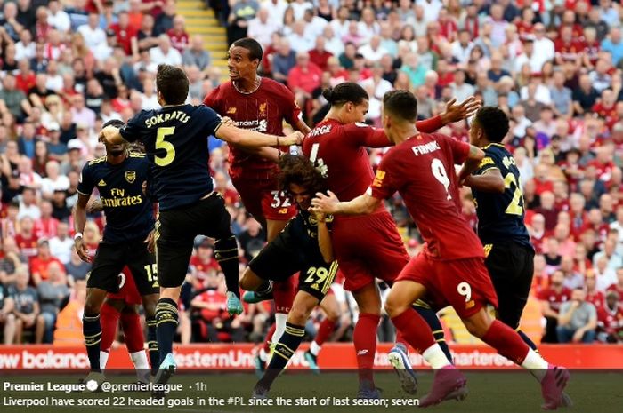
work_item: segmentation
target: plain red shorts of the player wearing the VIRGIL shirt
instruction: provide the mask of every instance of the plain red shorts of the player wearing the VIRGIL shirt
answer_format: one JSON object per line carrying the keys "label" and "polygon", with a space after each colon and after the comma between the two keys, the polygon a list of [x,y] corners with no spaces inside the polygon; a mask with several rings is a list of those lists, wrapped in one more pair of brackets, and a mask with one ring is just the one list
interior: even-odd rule
{"label": "plain red shorts of the player wearing the VIRGIL shirt", "polygon": [[337,217],[331,234],[344,289],[360,290],[380,278],[392,283],[409,262],[401,235],[387,210],[363,217]]}

